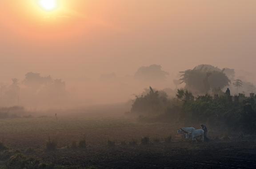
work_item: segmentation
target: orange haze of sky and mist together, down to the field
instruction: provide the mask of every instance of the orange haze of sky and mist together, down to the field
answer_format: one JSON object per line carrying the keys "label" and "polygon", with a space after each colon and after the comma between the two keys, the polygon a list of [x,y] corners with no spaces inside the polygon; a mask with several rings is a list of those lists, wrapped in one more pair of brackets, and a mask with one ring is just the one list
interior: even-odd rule
{"label": "orange haze of sky and mist together, down to the field", "polygon": [[[0,81],[20,88],[4,106],[126,103],[149,86],[175,91],[179,72],[200,64],[256,83],[254,0],[63,0],[68,10],[54,17],[30,1],[0,2]],[[141,73],[150,65],[161,68]],[[51,80],[31,91],[30,72]]]}

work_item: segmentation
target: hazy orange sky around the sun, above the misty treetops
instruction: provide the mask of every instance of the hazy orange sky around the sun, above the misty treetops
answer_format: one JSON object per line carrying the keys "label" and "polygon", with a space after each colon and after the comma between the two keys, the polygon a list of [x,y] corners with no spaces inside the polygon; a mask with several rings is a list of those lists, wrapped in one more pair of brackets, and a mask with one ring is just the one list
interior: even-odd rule
{"label": "hazy orange sky around the sun, above the misty treetops", "polygon": [[0,0],[0,79],[30,71],[81,80],[160,64],[255,71],[255,0]]}

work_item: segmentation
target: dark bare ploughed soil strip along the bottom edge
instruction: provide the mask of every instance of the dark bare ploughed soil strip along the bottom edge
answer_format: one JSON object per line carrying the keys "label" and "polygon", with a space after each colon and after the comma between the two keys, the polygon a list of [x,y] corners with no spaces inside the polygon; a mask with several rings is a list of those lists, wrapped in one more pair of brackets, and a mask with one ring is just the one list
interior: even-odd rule
{"label": "dark bare ploughed soil strip along the bottom edge", "polygon": [[172,142],[31,154],[62,166],[99,169],[255,169],[256,142]]}

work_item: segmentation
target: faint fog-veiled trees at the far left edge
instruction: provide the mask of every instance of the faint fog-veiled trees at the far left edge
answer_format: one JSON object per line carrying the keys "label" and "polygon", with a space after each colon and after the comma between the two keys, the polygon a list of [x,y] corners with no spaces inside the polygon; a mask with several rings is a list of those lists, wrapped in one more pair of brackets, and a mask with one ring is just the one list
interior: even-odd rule
{"label": "faint fog-veiled trees at the far left edge", "polygon": [[23,80],[13,78],[10,85],[0,84],[1,107],[57,105],[67,96],[64,81],[51,76],[43,77],[40,73],[29,72]]}

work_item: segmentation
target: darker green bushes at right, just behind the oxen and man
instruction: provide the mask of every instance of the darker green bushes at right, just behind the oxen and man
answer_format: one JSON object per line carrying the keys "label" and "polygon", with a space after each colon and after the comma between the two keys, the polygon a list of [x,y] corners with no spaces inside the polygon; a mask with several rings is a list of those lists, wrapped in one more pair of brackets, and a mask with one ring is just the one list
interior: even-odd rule
{"label": "darker green bushes at right, just behind the oxen and man", "polygon": [[239,98],[235,103],[230,96],[216,98],[206,94],[195,100],[183,100],[180,120],[186,123],[206,123],[212,127],[256,132],[255,98]]}

